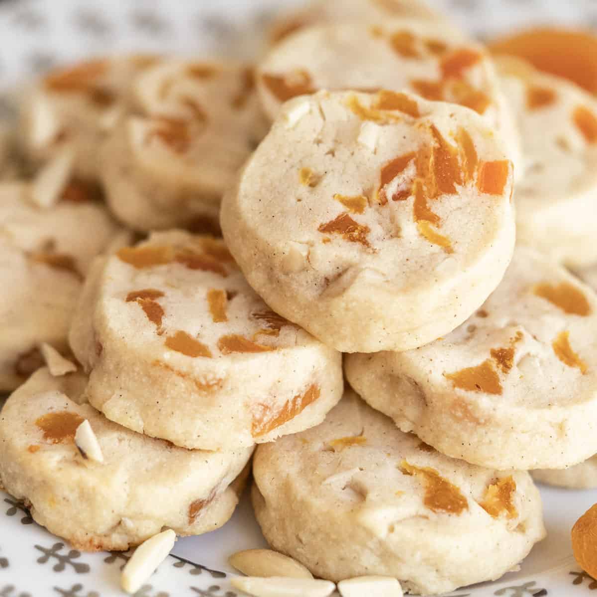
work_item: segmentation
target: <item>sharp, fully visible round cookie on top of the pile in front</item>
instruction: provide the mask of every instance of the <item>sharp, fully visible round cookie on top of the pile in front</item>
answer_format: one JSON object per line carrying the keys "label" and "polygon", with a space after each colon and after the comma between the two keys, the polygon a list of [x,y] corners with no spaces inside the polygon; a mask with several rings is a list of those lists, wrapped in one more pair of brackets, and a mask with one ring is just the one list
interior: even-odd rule
{"label": "sharp, fully visible round cookie on top of the pile in front", "polygon": [[447,334],[514,244],[512,163],[472,110],[380,91],[296,98],[224,196],[221,226],[273,310],[343,352]]}

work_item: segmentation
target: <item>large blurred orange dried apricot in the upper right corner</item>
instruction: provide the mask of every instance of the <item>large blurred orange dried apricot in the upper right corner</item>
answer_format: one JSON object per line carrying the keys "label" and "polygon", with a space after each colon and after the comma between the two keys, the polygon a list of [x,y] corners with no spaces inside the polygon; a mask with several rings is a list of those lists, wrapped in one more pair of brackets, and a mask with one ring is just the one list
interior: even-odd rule
{"label": "large blurred orange dried apricot in the upper right corner", "polygon": [[494,54],[511,54],[539,70],[573,81],[597,93],[597,37],[559,27],[537,27],[490,44]]}

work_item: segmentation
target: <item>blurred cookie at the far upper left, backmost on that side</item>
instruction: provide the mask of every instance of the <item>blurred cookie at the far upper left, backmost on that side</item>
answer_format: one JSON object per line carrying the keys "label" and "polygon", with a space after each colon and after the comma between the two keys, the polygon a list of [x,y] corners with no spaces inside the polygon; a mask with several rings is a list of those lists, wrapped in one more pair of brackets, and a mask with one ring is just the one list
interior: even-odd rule
{"label": "blurred cookie at the far upper left, backmost on that side", "polygon": [[155,56],[101,58],[54,70],[24,95],[21,143],[30,159],[45,162],[65,147],[75,154],[75,174],[96,180],[98,147],[134,108],[134,77]]}

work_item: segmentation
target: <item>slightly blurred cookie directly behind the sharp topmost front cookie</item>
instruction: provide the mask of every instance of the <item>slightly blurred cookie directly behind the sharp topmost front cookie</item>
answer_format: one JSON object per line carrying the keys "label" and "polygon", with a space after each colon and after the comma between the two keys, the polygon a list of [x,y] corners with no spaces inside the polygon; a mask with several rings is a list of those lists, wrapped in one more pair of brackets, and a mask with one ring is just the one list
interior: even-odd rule
{"label": "slightly blurred cookie directly behind the sharp topmost front cookie", "polygon": [[284,101],[313,91],[389,89],[472,108],[500,131],[515,172],[521,162],[515,121],[484,48],[443,23],[414,19],[330,23],[275,45],[257,69],[257,90],[274,119]]}

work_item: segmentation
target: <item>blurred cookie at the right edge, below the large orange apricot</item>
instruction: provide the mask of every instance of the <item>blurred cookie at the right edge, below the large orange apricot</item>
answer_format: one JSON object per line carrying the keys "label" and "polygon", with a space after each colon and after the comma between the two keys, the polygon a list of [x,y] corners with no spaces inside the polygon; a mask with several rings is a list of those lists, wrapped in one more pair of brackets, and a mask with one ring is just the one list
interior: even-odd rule
{"label": "blurred cookie at the right edge, below the large orange apricot", "polygon": [[580,267],[597,260],[597,100],[516,59],[497,60],[525,156],[515,188],[520,242]]}

